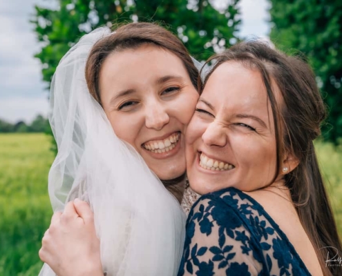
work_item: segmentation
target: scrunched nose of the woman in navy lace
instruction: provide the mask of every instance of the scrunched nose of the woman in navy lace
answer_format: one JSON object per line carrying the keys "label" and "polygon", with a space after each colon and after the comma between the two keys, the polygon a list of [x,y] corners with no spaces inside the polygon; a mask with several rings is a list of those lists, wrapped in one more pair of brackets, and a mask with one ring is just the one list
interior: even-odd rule
{"label": "scrunched nose of the woman in navy lace", "polygon": [[225,133],[225,129],[216,121],[211,122],[205,132],[202,134],[202,141],[207,146],[226,146],[227,135]]}

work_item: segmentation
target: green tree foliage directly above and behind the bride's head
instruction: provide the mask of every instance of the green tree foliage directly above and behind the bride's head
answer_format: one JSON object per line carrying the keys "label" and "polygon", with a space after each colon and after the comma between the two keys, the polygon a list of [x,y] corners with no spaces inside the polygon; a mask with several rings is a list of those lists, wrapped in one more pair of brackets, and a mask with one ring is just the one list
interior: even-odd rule
{"label": "green tree foliage directly above and behind the bride's head", "polygon": [[167,24],[191,55],[205,60],[236,41],[238,1],[226,0],[218,11],[205,0],[47,0],[46,6],[35,6],[32,18],[43,45],[35,57],[50,86],[59,60],[82,35],[98,26],[138,20]]}

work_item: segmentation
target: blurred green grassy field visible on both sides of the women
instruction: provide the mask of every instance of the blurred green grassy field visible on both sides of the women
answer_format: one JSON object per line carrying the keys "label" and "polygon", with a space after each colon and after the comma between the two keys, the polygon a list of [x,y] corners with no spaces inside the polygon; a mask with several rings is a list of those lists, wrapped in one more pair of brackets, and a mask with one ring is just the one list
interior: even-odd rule
{"label": "blurred green grassy field visible on both sides of the women", "polygon": [[[48,170],[53,161],[44,134],[0,135],[0,275],[37,275],[38,250],[52,210]],[[342,149],[316,143],[342,234]]]}

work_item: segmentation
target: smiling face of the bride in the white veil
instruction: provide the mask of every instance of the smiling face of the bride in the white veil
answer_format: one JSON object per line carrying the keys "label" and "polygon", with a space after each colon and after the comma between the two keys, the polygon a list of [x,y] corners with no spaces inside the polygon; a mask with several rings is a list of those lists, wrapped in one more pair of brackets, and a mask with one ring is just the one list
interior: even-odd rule
{"label": "smiling face of the bride in the white veil", "polygon": [[184,132],[198,92],[178,57],[149,44],[113,52],[102,64],[99,90],[117,137],[160,179],[185,172]]}

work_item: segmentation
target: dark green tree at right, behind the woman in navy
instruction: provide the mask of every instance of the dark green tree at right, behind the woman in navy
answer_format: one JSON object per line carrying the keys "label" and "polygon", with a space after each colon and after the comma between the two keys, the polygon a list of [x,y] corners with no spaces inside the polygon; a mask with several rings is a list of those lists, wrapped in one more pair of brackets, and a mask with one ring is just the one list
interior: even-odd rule
{"label": "dark green tree at right, behind the woman in navy", "polygon": [[271,39],[285,51],[295,48],[309,59],[329,110],[324,137],[342,137],[342,1],[274,0]]}

